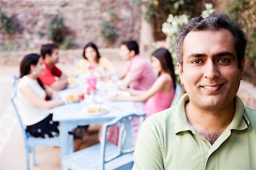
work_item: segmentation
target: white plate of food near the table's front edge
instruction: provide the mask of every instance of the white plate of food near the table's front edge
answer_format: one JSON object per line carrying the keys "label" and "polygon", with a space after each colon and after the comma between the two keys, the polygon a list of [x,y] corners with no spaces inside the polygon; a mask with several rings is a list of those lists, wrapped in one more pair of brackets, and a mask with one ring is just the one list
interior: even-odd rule
{"label": "white plate of food near the table's front edge", "polygon": [[[93,112],[93,110],[95,110]],[[90,107],[82,108],[82,112],[88,114],[89,116],[99,116],[109,112],[109,108],[104,105],[93,105]]]}

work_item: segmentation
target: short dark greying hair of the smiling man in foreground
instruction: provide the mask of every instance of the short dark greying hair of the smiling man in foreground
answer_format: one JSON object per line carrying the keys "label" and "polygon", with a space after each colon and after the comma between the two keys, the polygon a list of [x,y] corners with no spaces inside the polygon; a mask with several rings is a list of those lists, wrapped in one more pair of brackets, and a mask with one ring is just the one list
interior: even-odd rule
{"label": "short dark greying hair of the smiling man in foreground", "polygon": [[[205,30],[213,30],[217,31],[219,29],[228,29],[234,36],[235,44],[234,47],[237,52],[237,60],[238,67],[241,68],[241,61],[245,57],[245,49],[246,49],[246,39],[243,31],[238,28],[236,24],[230,21],[228,15],[225,14],[214,14],[208,16],[207,18],[198,17],[191,22],[188,23],[184,28],[182,28],[176,38],[176,56],[177,62],[180,63],[181,69],[183,68],[183,42],[185,36],[188,35],[189,32],[192,31],[205,31]],[[210,41],[210,40],[209,40]]]}

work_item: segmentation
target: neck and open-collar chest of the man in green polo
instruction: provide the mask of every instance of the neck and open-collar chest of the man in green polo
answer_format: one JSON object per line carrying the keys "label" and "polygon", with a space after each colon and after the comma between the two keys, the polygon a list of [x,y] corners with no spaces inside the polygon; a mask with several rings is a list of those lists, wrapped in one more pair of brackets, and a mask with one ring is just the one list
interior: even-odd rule
{"label": "neck and open-collar chest of the man in green polo", "polygon": [[225,108],[199,109],[191,101],[185,104],[189,124],[211,144],[228,127],[234,116],[234,102]]}

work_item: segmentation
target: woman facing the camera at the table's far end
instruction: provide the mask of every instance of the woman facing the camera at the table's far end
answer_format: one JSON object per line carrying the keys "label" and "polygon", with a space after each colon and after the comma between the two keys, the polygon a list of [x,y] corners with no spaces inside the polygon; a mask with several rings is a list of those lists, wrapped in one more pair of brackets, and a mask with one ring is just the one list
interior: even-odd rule
{"label": "woman facing the camera at the table's far end", "polygon": [[85,45],[83,57],[84,59],[81,59],[77,66],[79,75],[85,73],[115,73],[112,62],[108,58],[101,57],[96,44],[93,42]]}

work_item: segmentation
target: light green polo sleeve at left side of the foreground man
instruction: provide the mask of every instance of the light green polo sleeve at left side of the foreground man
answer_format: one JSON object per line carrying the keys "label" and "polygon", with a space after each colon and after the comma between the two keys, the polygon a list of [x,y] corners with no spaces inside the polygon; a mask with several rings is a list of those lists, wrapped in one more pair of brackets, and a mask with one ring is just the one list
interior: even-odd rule
{"label": "light green polo sleeve at left side of the foreground man", "polygon": [[139,137],[134,152],[133,169],[164,169],[160,137],[156,133],[154,122],[146,120],[139,131]]}

